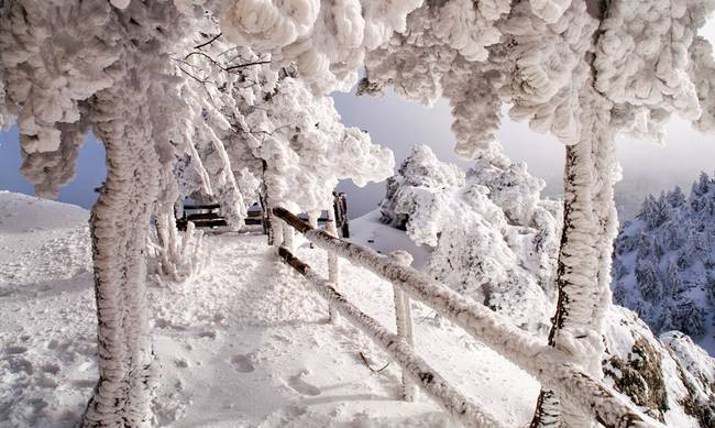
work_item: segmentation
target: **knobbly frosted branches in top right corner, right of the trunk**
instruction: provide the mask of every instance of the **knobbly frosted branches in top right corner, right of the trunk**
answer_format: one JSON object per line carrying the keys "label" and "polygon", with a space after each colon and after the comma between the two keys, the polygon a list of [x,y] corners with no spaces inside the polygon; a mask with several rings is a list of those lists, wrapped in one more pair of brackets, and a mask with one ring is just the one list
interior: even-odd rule
{"label": "knobbly frosted branches in top right corner, right of the trunk", "polygon": [[708,85],[697,70],[712,67],[713,58],[697,54],[710,44],[696,34],[713,10],[712,0],[612,2],[597,42],[595,86],[617,105],[620,127],[662,139],[673,112],[712,120],[712,109],[701,106],[710,102]]}

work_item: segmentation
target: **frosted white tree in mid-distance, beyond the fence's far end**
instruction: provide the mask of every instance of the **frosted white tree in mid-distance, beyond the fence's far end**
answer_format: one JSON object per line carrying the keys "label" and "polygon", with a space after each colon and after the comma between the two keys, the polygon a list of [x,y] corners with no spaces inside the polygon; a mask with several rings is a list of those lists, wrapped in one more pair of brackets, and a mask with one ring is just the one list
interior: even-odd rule
{"label": "frosted white tree in mid-distance, beyond the fence's far end", "polygon": [[[197,144],[198,162],[189,160],[187,166],[195,168],[184,187],[201,193],[202,169],[209,178],[228,169],[243,200],[316,211],[332,206],[339,179],[363,186],[392,174],[391,151],[373,144],[366,132],[344,127],[332,99],[297,78],[294,65],[273,67],[266,57],[215,36],[180,62],[193,77],[187,80],[191,90],[208,95],[205,116],[218,119],[207,121],[226,123]],[[218,155],[216,139],[224,154]],[[220,199],[221,193],[212,196]]]}

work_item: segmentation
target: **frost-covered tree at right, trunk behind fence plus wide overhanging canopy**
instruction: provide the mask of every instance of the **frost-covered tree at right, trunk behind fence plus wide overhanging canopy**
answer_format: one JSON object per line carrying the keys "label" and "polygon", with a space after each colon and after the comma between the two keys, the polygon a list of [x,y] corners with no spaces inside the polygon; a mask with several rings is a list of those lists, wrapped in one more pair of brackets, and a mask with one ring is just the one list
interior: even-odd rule
{"label": "frost-covered tree at right, trunk behind fence plus wide overhanging canopy", "polygon": [[[408,15],[406,31],[366,58],[362,92],[392,87],[424,102],[449,99],[458,154],[473,156],[493,140],[505,103],[513,119],[568,144],[561,298],[550,341],[595,375],[617,232],[615,136],[660,138],[673,112],[710,122],[712,109],[701,103],[708,102],[712,58],[707,42],[694,35],[714,7],[710,0],[426,1]],[[559,424],[557,397],[540,403],[535,425]],[[566,417],[569,425],[590,424]]]}

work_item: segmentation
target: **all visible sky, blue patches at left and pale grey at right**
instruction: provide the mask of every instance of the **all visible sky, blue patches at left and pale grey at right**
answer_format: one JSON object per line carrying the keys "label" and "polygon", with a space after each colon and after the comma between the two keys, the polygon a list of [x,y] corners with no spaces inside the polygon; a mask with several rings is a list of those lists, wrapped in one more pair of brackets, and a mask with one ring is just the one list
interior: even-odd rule
{"label": "all visible sky, blue patches at left and pale grey at right", "polygon": [[[701,34],[715,44],[714,19],[708,21]],[[375,143],[393,150],[396,167],[416,144],[429,145],[444,162],[470,166],[469,162],[457,158],[452,152],[454,138],[450,130],[452,120],[447,101],[440,100],[433,107],[425,107],[391,92],[382,97],[334,94],[333,98],[345,124],[369,131]],[[513,161],[525,161],[532,175],[547,182],[547,196],[560,195],[564,157],[562,143],[550,135],[530,131],[526,123],[515,123],[506,118],[497,138],[507,156]],[[680,119],[669,123],[664,145],[620,139],[617,147],[624,179],[617,186],[616,197],[629,216],[646,194],[670,189],[676,184],[688,187],[701,171],[715,172],[715,135],[703,135]],[[16,129],[0,132],[0,189],[32,195],[32,186],[19,173],[21,163]],[[97,198],[94,188],[103,178],[105,151],[90,135],[81,147],[76,177],[61,188],[58,199],[90,208]],[[385,185],[370,184],[359,188],[344,182],[339,190],[348,194],[350,215],[356,217],[377,207]]]}

